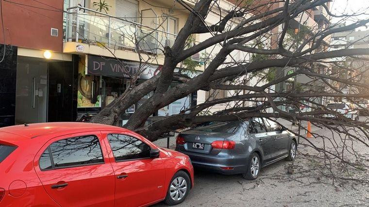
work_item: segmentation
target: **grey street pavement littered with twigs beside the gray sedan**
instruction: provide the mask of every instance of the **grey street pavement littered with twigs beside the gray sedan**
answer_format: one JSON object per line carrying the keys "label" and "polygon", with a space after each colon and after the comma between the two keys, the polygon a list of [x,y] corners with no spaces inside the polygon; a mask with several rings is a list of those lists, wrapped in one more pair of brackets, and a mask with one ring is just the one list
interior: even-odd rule
{"label": "grey street pavement littered with twigs beside the gray sedan", "polygon": [[[297,129],[287,122],[281,123],[293,131]],[[302,125],[307,126],[307,123]],[[342,139],[342,134],[327,128],[312,126],[312,132],[325,138],[301,139],[294,162],[282,160],[269,165],[261,170],[256,180],[245,180],[241,175],[219,175],[195,169],[195,186],[179,207],[369,206],[369,183],[366,182],[369,179],[368,168],[351,168],[337,160],[317,159],[323,154],[308,145],[311,142],[318,147],[325,146],[328,150],[337,149],[340,152],[343,143],[346,143],[355,153],[348,149],[345,158],[355,160],[355,157],[359,157],[366,166],[369,166],[368,147]],[[166,139],[154,143],[167,146]],[[174,146],[173,137],[170,138],[170,148]]]}

